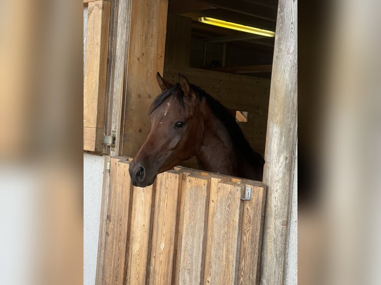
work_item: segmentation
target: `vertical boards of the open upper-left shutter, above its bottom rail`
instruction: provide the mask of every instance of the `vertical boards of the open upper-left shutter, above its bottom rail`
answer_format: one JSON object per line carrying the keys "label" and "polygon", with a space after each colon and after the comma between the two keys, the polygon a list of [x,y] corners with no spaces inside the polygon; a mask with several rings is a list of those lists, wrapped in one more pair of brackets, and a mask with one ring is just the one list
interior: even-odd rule
{"label": "vertical boards of the open upper-left shutter, above its bottom rail", "polygon": [[103,0],[89,2],[84,76],[84,127],[104,127],[109,16],[109,2]]}

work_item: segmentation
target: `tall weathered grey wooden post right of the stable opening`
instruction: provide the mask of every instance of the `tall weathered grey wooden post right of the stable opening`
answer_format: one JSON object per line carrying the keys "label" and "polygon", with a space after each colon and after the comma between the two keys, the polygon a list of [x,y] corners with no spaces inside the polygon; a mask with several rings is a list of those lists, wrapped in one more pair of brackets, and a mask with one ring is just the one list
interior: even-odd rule
{"label": "tall weathered grey wooden post right of the stable opening", "polygon": [[267,185],[260,284],[285,281],[297,130],[297,0],[280,0],[263,183]]}

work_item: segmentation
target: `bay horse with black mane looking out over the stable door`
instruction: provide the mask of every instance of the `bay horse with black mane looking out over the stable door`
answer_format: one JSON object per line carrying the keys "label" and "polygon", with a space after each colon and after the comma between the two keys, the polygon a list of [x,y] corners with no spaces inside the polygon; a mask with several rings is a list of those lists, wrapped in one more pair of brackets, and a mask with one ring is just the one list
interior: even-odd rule
{"label": "bay horse with black mane looking out over the stable door", "polygon": [[130,162],[132,184],[149,186],[157,174],[192,156],[202,170],[262,181],[265,161],[250,147],[233,115],[179,76],[179,83],[171,84],[157,72],[162,93],[151,106],[151,132]]}

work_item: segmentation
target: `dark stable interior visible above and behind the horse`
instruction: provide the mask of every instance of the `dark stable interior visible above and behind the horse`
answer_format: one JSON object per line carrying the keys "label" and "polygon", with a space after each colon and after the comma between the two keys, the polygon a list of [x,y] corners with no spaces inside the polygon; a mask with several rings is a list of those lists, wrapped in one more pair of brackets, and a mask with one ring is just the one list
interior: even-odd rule
{"label": "dark stable interior visible above and behind the horse", "polygon": [[[178,73],[200,86],[236,117],[252,148],[264,155],[275,37],[209,25],[213,17],[275,31],[277,0],[170,0],[164,78]],[[181,165],[197,168],[195,158]]]}

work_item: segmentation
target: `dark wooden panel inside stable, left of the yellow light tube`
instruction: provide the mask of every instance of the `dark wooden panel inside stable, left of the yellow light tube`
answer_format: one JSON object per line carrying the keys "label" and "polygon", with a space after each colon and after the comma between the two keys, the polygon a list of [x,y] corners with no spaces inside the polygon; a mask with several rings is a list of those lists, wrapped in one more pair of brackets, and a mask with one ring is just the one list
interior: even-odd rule
{"label": "dark wooden panel inside stable, left of the yellow light tube", "polygon": [[165,65],[189,66],[192,19],[169,13],[167,19]]}

